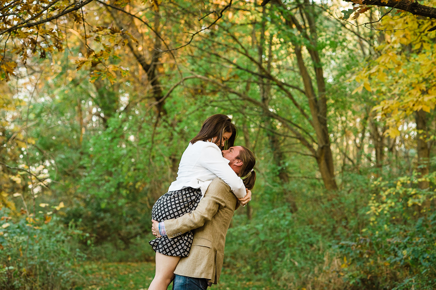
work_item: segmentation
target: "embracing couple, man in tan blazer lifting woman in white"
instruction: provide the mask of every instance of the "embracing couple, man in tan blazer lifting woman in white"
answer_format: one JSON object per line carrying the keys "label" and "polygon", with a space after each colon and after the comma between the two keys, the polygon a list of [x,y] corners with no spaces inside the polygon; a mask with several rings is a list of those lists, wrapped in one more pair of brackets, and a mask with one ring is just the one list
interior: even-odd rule
{"label": "embracing couple, man in tan blazer lifting woman in white", "polygon": [[233,146],[237,130],[213,115],[188,144],[177,179],[154,204],[150,245],[156,273],[149,290],[206,290],[220,278],[234,210],[251,200],[254,154]]}

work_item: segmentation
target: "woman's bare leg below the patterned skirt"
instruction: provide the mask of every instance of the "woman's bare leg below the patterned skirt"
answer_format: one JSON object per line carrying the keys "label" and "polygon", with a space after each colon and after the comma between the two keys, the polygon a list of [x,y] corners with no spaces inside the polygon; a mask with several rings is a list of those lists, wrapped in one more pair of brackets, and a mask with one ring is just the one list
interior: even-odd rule
{"label": "woman's bare leg below the patterned skirt", "polygon": [[167,290],[180,257],[167,256],[156,252],[156,274],[148,290]]}

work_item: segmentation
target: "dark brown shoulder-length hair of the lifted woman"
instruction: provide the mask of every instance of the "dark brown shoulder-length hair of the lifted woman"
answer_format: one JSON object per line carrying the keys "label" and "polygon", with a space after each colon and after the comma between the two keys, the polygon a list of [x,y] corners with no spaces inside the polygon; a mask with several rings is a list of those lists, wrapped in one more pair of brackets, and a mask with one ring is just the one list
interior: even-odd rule
{"label": "dark brown shoulder-length hair of the lifted woman", "polygon": [[[225,132],[231,132],[231,137],[221,146],[221,140]],[[232,147],[234,140],[237,136],[236,126],[232,123],[232,120],[223,114],[212,115],[204,121],[200,132],[190,142],[194,144],[197,141],[206,141],[213,137],[217,137],[215,144],[220,147],[221,150],[227,150]]]}

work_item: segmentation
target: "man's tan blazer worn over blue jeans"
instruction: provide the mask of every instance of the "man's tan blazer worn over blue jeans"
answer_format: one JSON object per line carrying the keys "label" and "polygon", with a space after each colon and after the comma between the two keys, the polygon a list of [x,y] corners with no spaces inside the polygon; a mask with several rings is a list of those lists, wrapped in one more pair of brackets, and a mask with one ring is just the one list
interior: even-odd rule
{"label": "man's tan blazer worn over blue jeans", "polygon": [[191,252],[180,260],[175,274],[206,278],[213,284],[218,283],[223,267],[226,234],[236,202],[230,187],[217,177],[194,211],[165,220],[165,230],[170,239],[190,230],[194,234]]}

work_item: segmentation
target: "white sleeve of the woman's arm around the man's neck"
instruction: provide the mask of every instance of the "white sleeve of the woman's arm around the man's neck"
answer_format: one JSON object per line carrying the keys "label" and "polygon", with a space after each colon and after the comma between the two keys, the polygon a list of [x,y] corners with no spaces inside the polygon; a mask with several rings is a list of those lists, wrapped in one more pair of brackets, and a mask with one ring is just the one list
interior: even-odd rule
{"label": "white sleeve of the woman's arm around the man's neck", "polygon": [[228,162],[224,160],[221,150],[215,144],[210,143],[203,148],[199,165],[227,183],[237,198],[242,198],[247,194],[241,177],[237,176]]}

